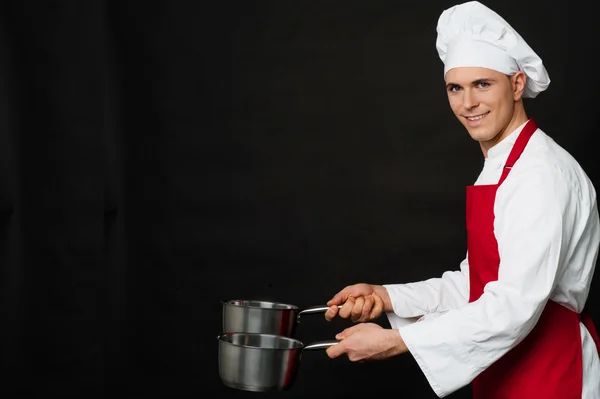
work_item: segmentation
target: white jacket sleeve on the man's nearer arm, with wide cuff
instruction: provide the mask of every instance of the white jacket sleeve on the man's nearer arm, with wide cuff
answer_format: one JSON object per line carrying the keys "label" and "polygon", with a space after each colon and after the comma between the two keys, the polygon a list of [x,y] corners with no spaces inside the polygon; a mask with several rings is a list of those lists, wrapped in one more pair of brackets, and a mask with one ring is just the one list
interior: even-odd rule
{"label": "white jacket sleeve on the man's nearer arm, with wide cuff", "polygon": [[399,328],[439,397],[469,384],[527,336],[564,270],[575,224],[587,216],[579,191],[551,169],[511,175],[498,189],[498,280],[477,301]]}

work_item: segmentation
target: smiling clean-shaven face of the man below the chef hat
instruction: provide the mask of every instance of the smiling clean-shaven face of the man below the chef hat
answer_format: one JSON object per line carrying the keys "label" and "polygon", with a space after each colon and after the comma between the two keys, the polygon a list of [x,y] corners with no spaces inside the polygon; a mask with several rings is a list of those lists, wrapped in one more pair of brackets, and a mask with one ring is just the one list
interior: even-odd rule
{"label": "smiling clean-shaven face of the man below the chef hat", "polygon": [[506,133],[520,99],[510,77],[488,68],[449,70],[446,90],[454,115],[482,145],[493,145]]}

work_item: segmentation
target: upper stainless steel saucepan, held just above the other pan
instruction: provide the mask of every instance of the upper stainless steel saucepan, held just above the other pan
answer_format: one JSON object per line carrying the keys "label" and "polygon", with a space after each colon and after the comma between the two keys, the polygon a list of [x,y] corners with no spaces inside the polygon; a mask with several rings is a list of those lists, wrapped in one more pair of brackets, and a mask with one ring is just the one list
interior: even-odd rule
{"label": "upper stainless steel saucepan, held just above the other pan", "polygon": [[223,331],[274,334],[292,337],[300,316],[325,313],[328,306],[312,306],[304,310],[286,303],[230,300],[223,303]]}

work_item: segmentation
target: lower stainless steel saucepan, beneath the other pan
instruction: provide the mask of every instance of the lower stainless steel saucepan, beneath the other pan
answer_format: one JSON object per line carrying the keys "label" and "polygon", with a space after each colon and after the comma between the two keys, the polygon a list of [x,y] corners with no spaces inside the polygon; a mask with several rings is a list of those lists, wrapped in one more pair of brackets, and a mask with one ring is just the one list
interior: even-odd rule
{"label": "lower stainless steel saucepan, beneath the other pan", "polygon": [[219,376],[223,384],[244,391],[288,390],[305,350],[326,349],[338,341],[304,345],[273,334],[225,333],[219,340]]}

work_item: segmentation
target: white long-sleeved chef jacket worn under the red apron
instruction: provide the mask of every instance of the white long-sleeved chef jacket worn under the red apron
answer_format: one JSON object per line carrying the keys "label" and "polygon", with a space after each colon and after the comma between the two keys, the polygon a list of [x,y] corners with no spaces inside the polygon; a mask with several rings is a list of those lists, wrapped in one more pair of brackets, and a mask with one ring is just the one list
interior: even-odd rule
{"label": "white long-sleeved chef jacket worn under the red apron", "polygon": [[[524,125],[488,151],[475,185],[498,183]],[[384,285],[393,306],[388,320],[440,398],[525,338],[547,299],[580,313],[588,297],[600,242],[596,192],[575,159],[542,130],[498,188],[494,214],[498,281],[478,301],[468,303],[468,258],[440,278]],[[598,399],[598,352],[580,328],[582,398]]]}

